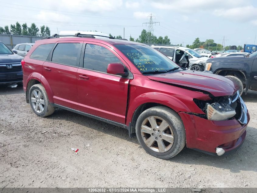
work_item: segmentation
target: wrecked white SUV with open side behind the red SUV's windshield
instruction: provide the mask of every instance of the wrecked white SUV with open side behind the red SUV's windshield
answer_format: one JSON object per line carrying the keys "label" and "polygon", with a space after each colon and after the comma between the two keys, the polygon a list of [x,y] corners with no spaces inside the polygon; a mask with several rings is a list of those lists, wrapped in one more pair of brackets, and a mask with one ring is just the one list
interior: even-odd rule
{"label": "wrecked white SUV with open side behind the red SUV's windshield", "polygon": [[182,46],[151,46],[167,56],[177,65],[189,70],[203,71],[208,57]]}

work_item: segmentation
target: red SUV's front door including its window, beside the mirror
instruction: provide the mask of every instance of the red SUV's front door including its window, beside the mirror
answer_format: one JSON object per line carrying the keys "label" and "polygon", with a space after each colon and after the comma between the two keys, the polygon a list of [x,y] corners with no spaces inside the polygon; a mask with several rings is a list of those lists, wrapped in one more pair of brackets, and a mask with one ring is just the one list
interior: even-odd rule
{"label": "red SUV's front door including its window, beside the mirror", "polygon": [[125,123],[129,79],[106,73],[109,63],[125,63],[111,48],[84,42],[77,73],[79,110]]}

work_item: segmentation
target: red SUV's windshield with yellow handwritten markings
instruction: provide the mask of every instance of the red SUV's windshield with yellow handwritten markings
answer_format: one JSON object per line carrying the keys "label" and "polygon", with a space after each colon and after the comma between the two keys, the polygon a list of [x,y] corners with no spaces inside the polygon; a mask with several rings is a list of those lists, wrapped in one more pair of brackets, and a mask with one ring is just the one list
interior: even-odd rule
{"label": "red SUV's windshield with yellow handwritten markings", "polygon": [[[165,55],[145,45],[115,45],[142,74],[167,73],[179,66]],[[177,68],[176,68],[177,67]]]}

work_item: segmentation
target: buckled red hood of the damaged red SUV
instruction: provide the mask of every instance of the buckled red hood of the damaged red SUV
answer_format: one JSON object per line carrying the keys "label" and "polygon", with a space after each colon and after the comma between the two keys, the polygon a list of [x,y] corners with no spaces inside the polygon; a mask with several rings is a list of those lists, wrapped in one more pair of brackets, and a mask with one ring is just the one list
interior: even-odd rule
{"label": "buckled red hood of the damaged red SUV", "polygon": [[206,72],[183,70],[174,73],[165,73],[147,76],[151,80],[207,91],[217,96],[233,95],[238,85],[226,77]]}

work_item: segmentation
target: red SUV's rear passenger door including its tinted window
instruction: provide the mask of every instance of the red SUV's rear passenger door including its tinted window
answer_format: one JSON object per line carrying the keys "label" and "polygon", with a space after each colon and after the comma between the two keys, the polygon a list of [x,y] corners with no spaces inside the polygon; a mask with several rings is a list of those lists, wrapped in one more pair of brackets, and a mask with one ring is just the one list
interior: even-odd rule
{"label": "red SUV's rear passenger door including its tinted window", "polygon": [[54,103],[77,109],[77,70],[83,41],[58,41],[43,64],[46,78],[54,94]]}

